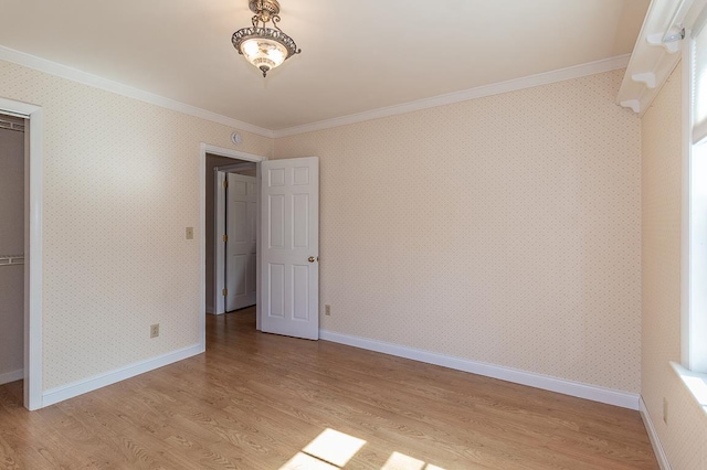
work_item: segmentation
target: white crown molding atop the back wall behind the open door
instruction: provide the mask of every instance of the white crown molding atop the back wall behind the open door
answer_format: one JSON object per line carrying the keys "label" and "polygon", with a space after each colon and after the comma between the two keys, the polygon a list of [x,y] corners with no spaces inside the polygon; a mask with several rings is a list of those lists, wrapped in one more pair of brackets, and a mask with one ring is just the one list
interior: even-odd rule
{"label": "white crown molding atop the back wall behind the open door", "polygon": [[461,92],[449,93],[445,95],[433,96],[431,98],[419,99],[415,102],[404,103],[402,105],[388,106],[384,108],[373,109],[370,111],[358,113],[354,115],[342,116],[334,119],[321,120],[318,122],[306,124],[304,126],[288,127],[286,129],[275,130],[274,137],[296,136],[315,130],[330,129],[333,127],[346,126],[349,124],[362,122],[371,119],[379,119],[389,116],[402,115],[405,113],[418,111],[421,109],[434,108],[437,106],[452,105],[454,103],[467,102],[469,99],[483,98],[486,96],[500,95],[503,93],[516,92],[524,88],[531,88],[540,85],[549,85],[551,83],[563,82],[572,78],[580,78],[589,75],[611,72],[619,68],[625,68],[629,64],[630,54],[619,55],[602,61],[590,62],[582,65],[576,65],[568,68],[560,68],[552,72],[545,72],[537,75],[529,75],[523,78],[515,78],[507,82],[499,82],[492,85],[468,88]]}

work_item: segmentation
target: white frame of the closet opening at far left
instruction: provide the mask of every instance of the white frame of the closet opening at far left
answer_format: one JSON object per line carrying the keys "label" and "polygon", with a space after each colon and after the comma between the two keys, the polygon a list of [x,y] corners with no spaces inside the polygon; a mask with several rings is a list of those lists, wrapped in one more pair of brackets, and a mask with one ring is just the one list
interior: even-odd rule
{"label": "white frame of the closet opening at far left", "polygon": [[0,98],[0,113],[29,120],[24,148],[24,407],[42,404],[42,107]]}

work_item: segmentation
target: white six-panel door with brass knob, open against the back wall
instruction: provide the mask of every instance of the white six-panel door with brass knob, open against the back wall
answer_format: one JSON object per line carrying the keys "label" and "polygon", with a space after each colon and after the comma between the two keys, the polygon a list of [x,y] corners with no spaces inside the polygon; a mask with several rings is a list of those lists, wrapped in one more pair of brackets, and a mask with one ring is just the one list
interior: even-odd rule
{"label": "white six-panel door with brass knob, open against the back wall", "polygon": [[261,163],[261,327],[319,339],[319,159]]}

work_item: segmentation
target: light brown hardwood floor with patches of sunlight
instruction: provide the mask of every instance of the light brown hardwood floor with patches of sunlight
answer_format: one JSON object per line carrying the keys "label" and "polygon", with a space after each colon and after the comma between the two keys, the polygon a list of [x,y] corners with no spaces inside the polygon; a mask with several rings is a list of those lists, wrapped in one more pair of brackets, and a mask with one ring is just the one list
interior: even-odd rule
{"label": "light brown hardwood floor with patches of sunlight", "polygon": [[39,412],[0,386],[0,468],[658,468],[636,412],[254,323],[208,316],[205,354]]}

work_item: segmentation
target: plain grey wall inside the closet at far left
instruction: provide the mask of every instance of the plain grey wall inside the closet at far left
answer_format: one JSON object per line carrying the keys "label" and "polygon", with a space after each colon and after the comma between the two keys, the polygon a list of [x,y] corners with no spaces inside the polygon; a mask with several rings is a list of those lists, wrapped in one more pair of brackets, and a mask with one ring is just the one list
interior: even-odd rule
{"label": "plain grey wall inside the closet at far left", "polygon": [[[24,133],[0,129],[0,256],[23,252]],[[23,286],[21,265],[0,266],[0,384],[24,367]]]}

